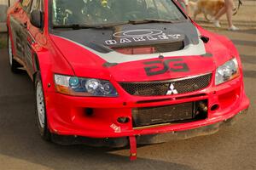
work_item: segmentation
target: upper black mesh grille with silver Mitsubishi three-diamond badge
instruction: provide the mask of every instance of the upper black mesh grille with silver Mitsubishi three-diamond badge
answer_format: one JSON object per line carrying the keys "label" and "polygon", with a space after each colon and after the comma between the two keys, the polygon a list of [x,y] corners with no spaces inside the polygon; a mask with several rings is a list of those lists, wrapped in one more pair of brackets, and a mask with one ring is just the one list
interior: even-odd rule
{"label": "upper black mesh grille with silver Mitsubishi three-diamond badge", "polygon": [[119,82],[119,84],[131,95],[163,96],[167,94],[186,94],[207,88],[211,78],[212,73],[162,82]]}

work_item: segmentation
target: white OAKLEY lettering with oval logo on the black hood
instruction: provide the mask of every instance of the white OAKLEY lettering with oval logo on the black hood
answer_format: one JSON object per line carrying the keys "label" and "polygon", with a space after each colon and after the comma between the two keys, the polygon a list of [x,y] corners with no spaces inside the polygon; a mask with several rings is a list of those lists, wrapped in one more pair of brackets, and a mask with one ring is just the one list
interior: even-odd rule
{"label": "white OAKLEY lettering with oval logo on the black hood", "polygon": [[179,39],[181,34],[166,34],[160,30],[143,29],[143,30],[130,30],[119,31],[113,34],[114,39],[106,40],[107,45],[124,44],[131,42],[146,42],[157,40],[170,40]]}

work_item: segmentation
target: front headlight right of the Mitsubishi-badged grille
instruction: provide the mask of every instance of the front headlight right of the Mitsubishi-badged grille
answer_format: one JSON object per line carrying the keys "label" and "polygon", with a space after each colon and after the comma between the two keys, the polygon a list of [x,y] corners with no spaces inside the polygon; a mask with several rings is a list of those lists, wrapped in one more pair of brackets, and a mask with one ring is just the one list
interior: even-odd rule
{"label": "front headlight right of the Mitsubishi-badged grille", "polygon": [[224,65],[220,65],[215,74],[215,85],[228,82],[239,77],[239,69],[236,58],[230,59]]}

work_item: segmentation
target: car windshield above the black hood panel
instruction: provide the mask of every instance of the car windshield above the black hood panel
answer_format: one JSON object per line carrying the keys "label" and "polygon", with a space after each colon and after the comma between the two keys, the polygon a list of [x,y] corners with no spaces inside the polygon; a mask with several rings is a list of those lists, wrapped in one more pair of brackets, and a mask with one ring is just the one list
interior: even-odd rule
{"label": "car windshield above the black hood panel", "polygon": [[[172,0],[53,0],[53,26],[111,26],[185,20]],[[141,21],[141,22],[136,22]],[[144,22],[143,22],[144,21]]]}

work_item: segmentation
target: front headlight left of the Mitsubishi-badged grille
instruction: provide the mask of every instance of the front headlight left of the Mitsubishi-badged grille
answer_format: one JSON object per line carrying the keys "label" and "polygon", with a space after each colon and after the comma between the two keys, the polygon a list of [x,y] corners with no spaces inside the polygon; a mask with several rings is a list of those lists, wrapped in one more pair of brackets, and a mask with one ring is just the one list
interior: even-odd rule
{"label": "front headlight left of the Mitsubishi-badged grille", "polygon": [[61,94],[74,96],[118,96],[111,82],[93,78],[69,77],[55,74],[55,88]]}

